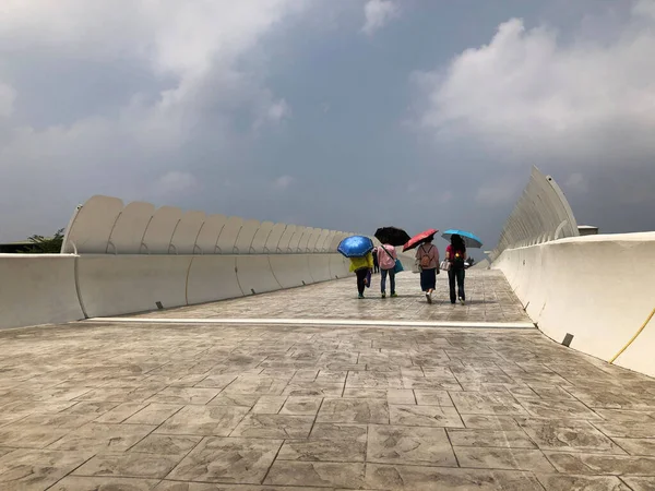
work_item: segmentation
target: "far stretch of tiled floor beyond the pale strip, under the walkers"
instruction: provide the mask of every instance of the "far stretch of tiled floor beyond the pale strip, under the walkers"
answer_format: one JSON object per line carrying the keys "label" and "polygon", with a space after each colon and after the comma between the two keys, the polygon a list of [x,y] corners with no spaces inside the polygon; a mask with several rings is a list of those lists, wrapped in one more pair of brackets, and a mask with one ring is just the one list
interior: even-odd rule
{"label": "far stretch of tiled floor beyond the pale strip, under the walkers", "polygon": [[[468,270],[465,306],[450,303],[445,273],[437,278],[432,304],[427,303],[420,291],[419,276],[402,273],[396,278],[397,298],[380,298],[380,275],[376,275],[364,300],[357,299],[353,277],[254,297],[150,312],[143,316],[529,322],[501,272]],[[391,294],[389,280],[386,289]]]}

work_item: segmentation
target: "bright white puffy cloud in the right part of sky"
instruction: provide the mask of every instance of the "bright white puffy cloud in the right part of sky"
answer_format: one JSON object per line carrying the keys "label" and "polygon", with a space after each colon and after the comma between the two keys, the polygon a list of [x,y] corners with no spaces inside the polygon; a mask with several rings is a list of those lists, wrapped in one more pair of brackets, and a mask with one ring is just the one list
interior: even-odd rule
{"label": "bright white puffy cloud in the right part of sky", "polygon": [[[609,43],[563,43],[547,27],[501,24],[488,45],[418,73],[416,123],[481,142],[504,160],[627,165],[655,157],[655,2],[635,3]],[[629,158],[626,158],[629,157]]]}

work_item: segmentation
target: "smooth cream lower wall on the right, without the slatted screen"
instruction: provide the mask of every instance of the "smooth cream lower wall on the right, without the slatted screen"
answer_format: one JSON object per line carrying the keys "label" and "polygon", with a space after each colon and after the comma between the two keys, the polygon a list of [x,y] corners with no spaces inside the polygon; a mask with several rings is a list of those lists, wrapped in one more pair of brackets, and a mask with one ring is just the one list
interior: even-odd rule
{"label": "smooth cream lower wall on the right, without the slatted screen", "polygon": [[[507,249],[501,270],[538,327],[571,348],[655,376],[655,232]],[[635,334],[639,335],[633,338]]]}

